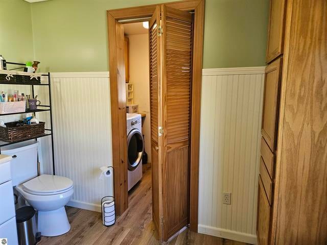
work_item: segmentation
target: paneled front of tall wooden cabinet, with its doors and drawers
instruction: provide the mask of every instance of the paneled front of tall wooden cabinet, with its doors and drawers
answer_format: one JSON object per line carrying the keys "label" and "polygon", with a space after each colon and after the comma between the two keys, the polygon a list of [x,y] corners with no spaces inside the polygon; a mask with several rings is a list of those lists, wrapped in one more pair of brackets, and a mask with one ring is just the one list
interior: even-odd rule
{"label": "paneled front of tall wooden cabinet, with its doors and drawers", "polygon": [[267,43],[267,67],[261,126],[261,157],[258,192],[258,220],[256,233],[260,245],[274,244],[272,211],[279,106],[282,85],[286,0],[270,0]]}

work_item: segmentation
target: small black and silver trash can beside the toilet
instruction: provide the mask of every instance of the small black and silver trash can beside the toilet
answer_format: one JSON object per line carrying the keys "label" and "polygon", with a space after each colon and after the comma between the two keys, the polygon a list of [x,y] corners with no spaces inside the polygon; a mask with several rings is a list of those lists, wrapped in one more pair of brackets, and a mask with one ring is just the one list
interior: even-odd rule
{"label": "small black and silver trash can beside the toilet", "polygon": [[30,206],[18,208],[16,224],[19,245],[34,245],[40,240],[41,234],[36,233],[34,208]]}

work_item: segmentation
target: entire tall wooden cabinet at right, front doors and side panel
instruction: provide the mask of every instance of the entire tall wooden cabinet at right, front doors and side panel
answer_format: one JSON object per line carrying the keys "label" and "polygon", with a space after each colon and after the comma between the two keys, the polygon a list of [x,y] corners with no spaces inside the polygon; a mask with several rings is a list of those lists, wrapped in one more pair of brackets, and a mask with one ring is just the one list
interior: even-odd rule
{"label": "entire tall wooden cabinet at right, front doors and side panel", "polygon": [[327,2],[270,4],[258,243],[327,244]]}

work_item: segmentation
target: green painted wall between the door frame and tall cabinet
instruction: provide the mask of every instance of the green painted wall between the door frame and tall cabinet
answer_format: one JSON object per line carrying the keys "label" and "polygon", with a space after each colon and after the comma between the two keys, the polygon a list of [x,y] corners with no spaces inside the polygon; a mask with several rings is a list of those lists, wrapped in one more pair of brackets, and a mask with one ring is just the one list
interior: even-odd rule
{"label": "green painted wall between the door frame and tall cabinet", "polygon": [[207,0],[204,68],[264,66],[268,0]]}

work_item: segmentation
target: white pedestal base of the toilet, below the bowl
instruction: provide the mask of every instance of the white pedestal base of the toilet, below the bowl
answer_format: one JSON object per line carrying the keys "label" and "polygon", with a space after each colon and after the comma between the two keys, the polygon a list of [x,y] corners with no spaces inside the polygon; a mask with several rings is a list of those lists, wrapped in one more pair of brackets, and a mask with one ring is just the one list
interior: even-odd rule
{"label": "white pedestal base of the toilet, below the bowl", "polygon": [[37,230],[42,236],[59,236],[70,229],[65,207],[53,211],[38,211]]}

